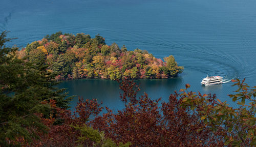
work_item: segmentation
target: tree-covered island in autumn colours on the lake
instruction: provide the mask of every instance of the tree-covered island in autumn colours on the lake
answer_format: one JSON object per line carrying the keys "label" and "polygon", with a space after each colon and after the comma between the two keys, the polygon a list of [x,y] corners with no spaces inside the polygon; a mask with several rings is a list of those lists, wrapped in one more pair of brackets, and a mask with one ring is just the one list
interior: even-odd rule
{"label": "tree-covered island in autumn colours on the lake", "polygon": [[183,71],[173,55],[164,61],[146,50],[129,51],[125,45],[106,45],[99,35],[47,35],[17,51],[19,58],[35,64],[48,65],[56,80],[78,78],[143,79],[176,77]]}

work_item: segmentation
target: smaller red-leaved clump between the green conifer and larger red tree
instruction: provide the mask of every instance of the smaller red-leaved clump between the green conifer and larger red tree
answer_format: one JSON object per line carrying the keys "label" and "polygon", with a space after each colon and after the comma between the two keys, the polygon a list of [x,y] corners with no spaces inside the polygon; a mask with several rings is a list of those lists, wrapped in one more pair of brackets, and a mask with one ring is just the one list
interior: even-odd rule
{"label": "smaller red-leaved clump between the green conifer and larger red tree", "polygon": [[23,146],[76,146],[80,134],[72,126],[89,125],[89,117],[95,117],[102,109],[96,99],[84,101],[79,98],[75,113],[56,107],[53,100],[50,105],[53,108],[50,117],[41,117],[42,122],[49,128],[48,134],[39,134],[40,140],[33,140],[31,144]]}

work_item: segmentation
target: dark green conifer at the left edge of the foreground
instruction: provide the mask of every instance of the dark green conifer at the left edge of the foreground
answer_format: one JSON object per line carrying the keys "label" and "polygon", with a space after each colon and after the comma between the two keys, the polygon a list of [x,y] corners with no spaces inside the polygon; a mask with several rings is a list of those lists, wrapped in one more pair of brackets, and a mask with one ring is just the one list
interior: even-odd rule
{"label": "dark green conifer at the left edge of the foreground", "polygon": [[[37,132],[46,132],[38,114],[48,114],[49,106],[43,101],[56,100],[59,107],[68,108],[70,98],[64,99],[65,90],[53,88],[57,83],[46,71],[47,66],[24,62],[16,57],[17,47],[7,47],[11,41],[7,32],[0,36],[0,144],[19,145],[39,138]],[[40,48],[39,48],[40,49]]]}

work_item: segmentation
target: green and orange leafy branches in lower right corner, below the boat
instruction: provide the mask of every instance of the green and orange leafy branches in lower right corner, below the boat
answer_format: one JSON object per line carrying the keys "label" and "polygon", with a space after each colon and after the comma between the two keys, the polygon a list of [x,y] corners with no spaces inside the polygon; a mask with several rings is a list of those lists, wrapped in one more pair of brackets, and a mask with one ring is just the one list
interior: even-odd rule
{"label": "green and orange leafy branches in lower right corner, below the boat", "polygon": [[[225,134],[225,145],[230,146],[255,146],[256,145],[256,86],[250,87],[239,79],[232,80],[238,86],[237,94],[229,95],[240,105],[232,108],[226,102],[212,104],[207,95],[195,95],[188,92],[190,85],[183,91],[183,106],[197,110],[201,120],[213,131]],[[247,104],[246,104],[247,103]],[[246,104],[246,105],[245,105]]]}

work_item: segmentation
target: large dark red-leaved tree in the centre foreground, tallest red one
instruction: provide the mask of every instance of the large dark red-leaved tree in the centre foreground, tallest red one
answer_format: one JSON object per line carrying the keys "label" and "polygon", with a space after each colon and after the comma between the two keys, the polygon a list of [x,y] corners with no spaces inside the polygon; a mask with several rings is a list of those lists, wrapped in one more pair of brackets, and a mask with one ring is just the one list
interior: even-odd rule
{"label": "large dark red-leaved tree in the centre foreground, tallest red one", "polygon": [[[133,81],[120,82],[120,99],[124,109],[107,112],[92,120],[92,127],[104,131],[115,142],[131,142],[131,146],[223,146],[222,134],[212,133],[200,121],[200,115],[183,108],[182,95],[175,92],[168,102],[151,99]],[[214,96],[209,99],[214,101]],[[201,129],[201,130],[199,130]]]}

